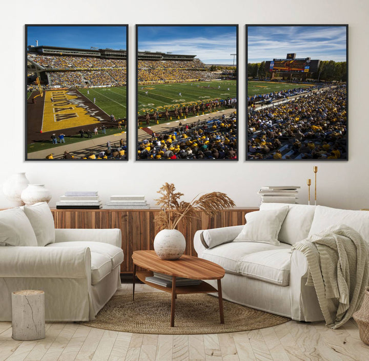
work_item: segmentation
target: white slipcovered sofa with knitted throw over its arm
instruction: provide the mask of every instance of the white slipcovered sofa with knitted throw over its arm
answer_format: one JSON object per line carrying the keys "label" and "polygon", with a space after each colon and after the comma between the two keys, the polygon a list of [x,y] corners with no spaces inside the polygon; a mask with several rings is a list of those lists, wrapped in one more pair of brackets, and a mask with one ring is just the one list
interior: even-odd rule
{"label": "white slipcovered sofa with knitted throw over its arm", "polygon": [[[260,211],[283,206],[264,203]],[[369,212],[296,204],[289,205],[277,233],[279,245],[237,242],[244,226],[234,226],[197,231],[194,247],[198,257],[226,270],[222,279],[224,299],[293,320],[321,321],[324,318],[315,289],[305,286],[306,258],[298,250],[292,252],[291,245],[336,224],[354,228],[369,246]],[[216,287],[216,282],[207,282]]]}

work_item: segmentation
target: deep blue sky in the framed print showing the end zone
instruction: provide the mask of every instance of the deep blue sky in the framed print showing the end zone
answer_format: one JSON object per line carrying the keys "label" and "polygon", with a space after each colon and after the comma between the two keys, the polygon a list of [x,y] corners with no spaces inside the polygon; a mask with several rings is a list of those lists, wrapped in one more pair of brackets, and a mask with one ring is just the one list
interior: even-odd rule
{"label": "deep blue sky in the framed print showing the end zone", "polygon": [[29,26],[27,45],[127,49],[125,26]]}

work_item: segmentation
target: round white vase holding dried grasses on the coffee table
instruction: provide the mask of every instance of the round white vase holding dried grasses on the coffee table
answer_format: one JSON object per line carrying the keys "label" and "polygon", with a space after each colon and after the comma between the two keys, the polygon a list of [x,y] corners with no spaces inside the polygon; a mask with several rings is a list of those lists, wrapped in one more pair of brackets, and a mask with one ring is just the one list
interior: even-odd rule
{"label": "round white vase holding dried grasses on the coffee table", "polygon": [[177,229],[163,229],[155,236],[154,250],[162,260],[176,260],[185,249],[185,236]]}

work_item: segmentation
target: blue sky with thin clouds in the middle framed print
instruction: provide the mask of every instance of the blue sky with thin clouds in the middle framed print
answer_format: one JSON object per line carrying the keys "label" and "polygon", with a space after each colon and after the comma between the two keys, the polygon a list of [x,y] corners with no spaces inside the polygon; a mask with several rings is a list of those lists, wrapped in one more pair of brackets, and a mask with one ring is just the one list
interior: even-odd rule
{"label": "blue sky with thin clouds in the middle framed print", "polygon": [[[204,63],[233,64],[235,26],[139,26],[138,50],[196,55]],[[236,59],[235,59],[236,64]]]}

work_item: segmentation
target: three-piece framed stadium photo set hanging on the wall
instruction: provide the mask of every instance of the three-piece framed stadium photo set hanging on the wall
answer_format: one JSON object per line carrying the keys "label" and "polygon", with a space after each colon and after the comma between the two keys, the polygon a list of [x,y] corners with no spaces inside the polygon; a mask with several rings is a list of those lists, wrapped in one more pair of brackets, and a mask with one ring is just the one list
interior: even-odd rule
{"label": "three-piece framed stadium photo set hanging on the wall", "polygon": [[26,25],[26,160],[347,160],[347,30]]}

